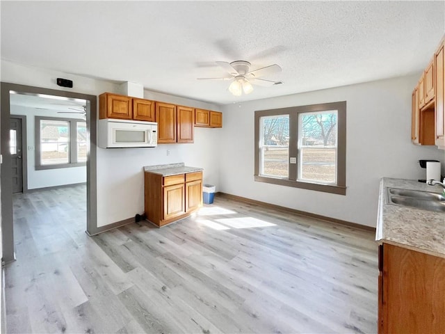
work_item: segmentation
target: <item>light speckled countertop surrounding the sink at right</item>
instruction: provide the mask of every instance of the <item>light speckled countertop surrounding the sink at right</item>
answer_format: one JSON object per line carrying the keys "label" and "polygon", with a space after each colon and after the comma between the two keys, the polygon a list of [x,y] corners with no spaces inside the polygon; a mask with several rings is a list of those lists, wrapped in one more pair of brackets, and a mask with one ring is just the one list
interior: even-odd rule
{"label": "light speckled countertop surrounding the sink at right", "polygon": [[445,257],[445,213],[387,204],[388,187],[442,193],[439,186],[416,180],[382,178],[375,239]]}

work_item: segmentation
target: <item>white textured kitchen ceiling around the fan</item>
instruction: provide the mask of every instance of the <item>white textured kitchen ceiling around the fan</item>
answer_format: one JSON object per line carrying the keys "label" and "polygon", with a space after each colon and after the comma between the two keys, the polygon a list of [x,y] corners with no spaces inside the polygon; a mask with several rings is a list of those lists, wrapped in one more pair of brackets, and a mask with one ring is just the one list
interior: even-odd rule
{"label": "white textured kitchen ceiling around the fan", "polygon": [[[1,58],[229,104],[426,67],[444,1],[1,1]],[[215,61],[277,63],[283,81],[234,97]],[[69,79],[69,78],[68,78]]]}

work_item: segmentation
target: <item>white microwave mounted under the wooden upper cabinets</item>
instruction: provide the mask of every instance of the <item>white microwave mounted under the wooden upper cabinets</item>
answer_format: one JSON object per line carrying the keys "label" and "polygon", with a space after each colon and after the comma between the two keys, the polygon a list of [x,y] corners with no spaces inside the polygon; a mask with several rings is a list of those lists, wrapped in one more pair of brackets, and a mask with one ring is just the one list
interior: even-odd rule
{"label": "white microwave mounted under the wooden upper cabinets", "polygon": [[140,120],[99,120],[99,148],[154,148],[158,123]]}

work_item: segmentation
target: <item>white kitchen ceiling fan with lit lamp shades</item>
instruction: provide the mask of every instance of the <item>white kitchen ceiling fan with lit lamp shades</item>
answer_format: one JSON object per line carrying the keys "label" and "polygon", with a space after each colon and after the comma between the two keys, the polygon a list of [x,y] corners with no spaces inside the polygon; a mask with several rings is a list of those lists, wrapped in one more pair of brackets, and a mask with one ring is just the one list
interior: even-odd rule
{"label": "white kitchen ceiling fan with lit lamp shades", "polygon": [[223,68],[230,77],[222,78],[197,78],[198,80],[233,80],[232,84],[229,86],[229,92],[235,96],[241,96],[243,92],[245,94],[252,93],[252,84],[258,86],[273,86],[280,85],[283,81],[271,81],[266,79],[259,79],[259,77],[264,77],[268,74],[274,74],[281,72],[282,69],[279,65],[273,64],[266,67],[261,67],[257,70],[250,71],[250,64],[248,61],[232,61],[232,63],[227,63],[225,61],[217,61],[218,66]]}

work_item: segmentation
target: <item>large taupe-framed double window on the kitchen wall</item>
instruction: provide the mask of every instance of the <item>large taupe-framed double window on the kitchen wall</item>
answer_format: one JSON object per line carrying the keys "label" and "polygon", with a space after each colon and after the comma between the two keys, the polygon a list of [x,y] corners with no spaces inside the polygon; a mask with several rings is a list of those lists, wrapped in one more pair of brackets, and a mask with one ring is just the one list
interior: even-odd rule
{"label": "large taupe-framed double window on the kitchen wall", "polygon": [[346,194],[346,102],[255,111],[255,181]]}

